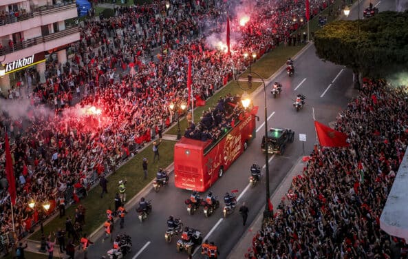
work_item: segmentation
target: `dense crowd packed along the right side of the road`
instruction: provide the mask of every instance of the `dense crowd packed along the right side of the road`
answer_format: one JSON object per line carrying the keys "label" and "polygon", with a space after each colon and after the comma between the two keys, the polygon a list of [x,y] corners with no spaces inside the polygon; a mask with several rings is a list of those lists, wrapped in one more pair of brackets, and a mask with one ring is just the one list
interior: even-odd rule
{"label": "dense crowd packed along the right side of the road", "polygon": [[365,81],[337,118],[350,147],[314,149],[248,258],[406,258],[380,215],[408,144],[407,87]]}

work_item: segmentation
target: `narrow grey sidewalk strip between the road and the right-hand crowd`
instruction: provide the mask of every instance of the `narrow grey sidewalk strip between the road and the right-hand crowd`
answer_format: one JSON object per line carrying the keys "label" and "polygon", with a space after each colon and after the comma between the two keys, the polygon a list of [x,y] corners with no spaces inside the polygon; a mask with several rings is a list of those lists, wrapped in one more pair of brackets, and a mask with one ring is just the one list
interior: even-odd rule
{"label": "narrow grey sidewalk strip between the road and the right-hand crowd", "polygon": [[[306,163],[302,161],[302,157],[297,160],[297,163],[290,169],[289,174],[283,178],[283,181],[279,184],[277,189],[273,192],[270,200],[274,207],[277,207],[279,203],[281,203],[281,198],[286,195],[290,185],[292,183],[292,179],[294,176],[301,174],[303,171],[303,167],[305,167]],[[252,224],[248,227],[248,231],[244,234],[241,239],[237,242],[235,247],[232,249],[230,254],[228,254],[228,259],[239,259],[245,258],[245,254],[248,253],[248,248],[252,247],[252,241],[257,233],[258,229],[261,229],[262,219],[264,218],[264,209],[259,211],[257,218],[252,222]]]}

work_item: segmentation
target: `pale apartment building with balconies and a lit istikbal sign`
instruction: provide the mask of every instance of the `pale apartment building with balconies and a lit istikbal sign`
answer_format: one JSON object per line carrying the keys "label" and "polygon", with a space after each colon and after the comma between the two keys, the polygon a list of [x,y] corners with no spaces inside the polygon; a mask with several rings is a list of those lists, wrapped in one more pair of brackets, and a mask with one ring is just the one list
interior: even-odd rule
{"label": "pale apartment building with balconies and a lit istikbal sign", "polygon": [[0,62],[6,68],[0,78],[2,94],[32,69],[44,82],[50,54],[65,63],[67,48],[79,40],[78,25],[67,20],[77,16],[75,0],[0,1]]}

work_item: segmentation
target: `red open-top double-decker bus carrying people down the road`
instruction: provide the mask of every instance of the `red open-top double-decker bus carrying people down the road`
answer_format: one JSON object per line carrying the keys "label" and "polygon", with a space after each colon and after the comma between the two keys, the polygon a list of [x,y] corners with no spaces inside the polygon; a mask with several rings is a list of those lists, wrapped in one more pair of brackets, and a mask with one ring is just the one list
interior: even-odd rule
{"label": "red open-top double-decker bus carrying people down the road", "polygon": [[175,187],[206,191],[255,138],[255,114],[242,112],[234,127],[217,141],[200,141],[183,136],[174,147]]}

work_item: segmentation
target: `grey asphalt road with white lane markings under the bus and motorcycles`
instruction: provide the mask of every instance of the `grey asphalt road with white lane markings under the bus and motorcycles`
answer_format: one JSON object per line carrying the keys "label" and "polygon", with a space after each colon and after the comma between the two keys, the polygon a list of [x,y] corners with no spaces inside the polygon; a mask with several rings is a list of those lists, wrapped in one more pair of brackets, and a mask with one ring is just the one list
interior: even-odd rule
{"label": "grey asphalt road with white lane markings under the bus and motorcycles", "polygon": [[[376,3],[378,3],[380,11],[395,8],[395,3],[391,3],[391,1],[373,1],[374,6]],[[365,6],[369,5],[369,1],[361,1],[360,4],[362,18],[363,10]],[[354,12],[356,9],[357,6],[347,19],[357,19],[358,13]],[[283,70],[276,79],[271,81],[271,83],[279,81],[283,85],[283,92],[277,99],[273,99],[272,94],[270,94],[271,85],[266,85],[268,127],[288,127],[295,132],[295,141],[288,145],[283,156],[270,156],[271,194],[297,158],[303,155],[303,149],[305,154],[312,150],[316,143],[314,119],[328,125],[328,123],[336,120],[339,112],[356,95],[356,91],[352,89],[352,72],[340,65],[318,59],[313,45],[310,45],[303,54],[294,60],[294,66],[294,76],[289,78],[286,71]],[[299,112],[296,112],[292,107],[297,93],[306,96],[306,105]],[[261,137],[264,133],[263,89],[253,95],[253,102],[255,105],[259,105],[257,115],[260,117],[260,121],[257,122],[257,137],[226,174],[211,187],[213,194],[217,195],[220,200],[226,191],[239,190],[238,207],[245,201],[250,210],[247,226],[265,206],[265,176],[263,175],[261,183],[256,187],[248,187],[250,166],[253,163],[265,165],[265,156],[260,149]],[[304,148],[299,141],[299,134],[306,134],[307,136],[307,141],[303,143]],[[264,171],[263,169],[263,174]],[[114,235],[127,233],[132,238],[133,251],[127,258],[177,259],[187,257],[186,253],[176,251],[175,244],[178,238],[175,238],[170,244],[164,241],[164,232],[167,229],[166,220],[169,215],[180,217],[184,226],[194,227],[202,231],[203,237],[207,237],[209,241],[218,245],[219,258],[225,258],[239,238],[248,230],[242,225],[239,214],[235,211],[228,218],[222,219],[222,208],[219,208],[210,218],[204,217],[202,209],[197,214],[189,216],[184,200],[189,197],[190,192],[175,188],[172,176],[173,174],[171,174],[170,185],[160,189],[158,193],[148,189],[143,194],[147,200],[152,200],[153,203],[153,212],[145,222],[138,222],[135,207],[127,207],[129,214],[126,215],[125,229],[119,229],[118,222],[116,222]],[[205,195],[202,194],[204,197]],[[222,205],[224,203],[221,202]],[[95,244],[89,248],[88,258],[106,256],[106,252],[111,248],[109,240],[101,242],[101,238],[98,238],[92,241]],[[200,253],[195,253],[193,258],[200,258]]]}

